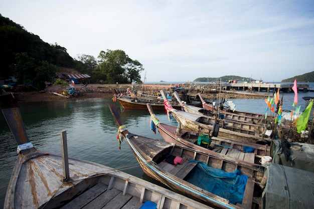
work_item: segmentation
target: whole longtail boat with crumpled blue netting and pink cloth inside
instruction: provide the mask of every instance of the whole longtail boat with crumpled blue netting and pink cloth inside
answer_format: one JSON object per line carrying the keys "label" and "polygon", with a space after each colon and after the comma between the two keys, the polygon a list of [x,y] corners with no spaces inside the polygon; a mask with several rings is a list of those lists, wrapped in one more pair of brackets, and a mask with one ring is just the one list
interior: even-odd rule
{"label": "whole longtail boat with crumpled blue netting and pink cloth inside", "polygon": [[[128,143],[147,175],[214,208],[252,208],[258,204],[253,201],[261,197],[262,180],[266,179],[262,166],[130,133],[116,105],[109,104],[109,108],[119,127],[119,141]],[[210,177],[209,170],[222,178]],[[254,193],[258,195],[253,200]]]}

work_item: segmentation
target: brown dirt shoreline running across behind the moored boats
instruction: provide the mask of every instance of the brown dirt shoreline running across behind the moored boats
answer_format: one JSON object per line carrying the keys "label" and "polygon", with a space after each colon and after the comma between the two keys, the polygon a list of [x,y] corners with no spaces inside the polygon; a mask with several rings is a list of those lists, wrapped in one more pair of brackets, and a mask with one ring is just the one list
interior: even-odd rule
{"label": "brown dirt shoreline running across behind the moored boats", "polygon": [[[19,102],[45,102],[45,101],[56,101],[56,100],[79,100],[79,99],[89,99],[89,98],[112,98],[113,93],[111,89],[116,88],[120,89],[121,92],[125,92],[126,88],[131,88],[131,84],[89,84],[86,87],[82,87],[80,85],[76,85],[75,89],[79,92],[77,97],[64,98],[62,96],[58,96],[53,94],[52,92],[57,92],[62,94],[63,89],[60,86],[51,86],[47,87],[44,91],[29,91],[29,92],[17,92],[16,100]],[[159,85],[159,84],[145,84],[144,89],[148,93],[156,93],[161,89],[169,90],[169,85]],[[137,85],[135,87],[137,90],[141,90],[142,86]],[[189,89],[189,88],[186,88]],[[199,92],[202,92],[201,89],[190,89],[188,94],[190,96],[196,96]],[[214,97],[218,97],[217,92],[210,93],[205,90],[202,93],[203,98],[213,99]],[[236,92],[229,91],[227,93],[221,93],[221,98],[228,99],[260,99],[266,98],[268,95],[266,94],[252,94],[248,92]]]}

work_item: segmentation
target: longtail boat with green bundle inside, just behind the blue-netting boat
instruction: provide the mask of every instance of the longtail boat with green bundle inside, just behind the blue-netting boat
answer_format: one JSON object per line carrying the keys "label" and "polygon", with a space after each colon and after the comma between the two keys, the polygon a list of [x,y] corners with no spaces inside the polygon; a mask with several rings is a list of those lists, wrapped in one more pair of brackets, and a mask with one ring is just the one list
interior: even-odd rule
{"label": "longtail boat with green bundle inside, just behind the blue-netting boat", "polygon": [[210,134],[190,131],[160,122],[154,114],[150,104],[147,104],[150,113],[150,127],[156,132],[157,128],[165,141],[201,150],[205,153],[217,152],[226,157],[232,157],[250,163],[261,164],[263,156],[270,155],[270,146],[256,144],[236,139],[210,136]]}

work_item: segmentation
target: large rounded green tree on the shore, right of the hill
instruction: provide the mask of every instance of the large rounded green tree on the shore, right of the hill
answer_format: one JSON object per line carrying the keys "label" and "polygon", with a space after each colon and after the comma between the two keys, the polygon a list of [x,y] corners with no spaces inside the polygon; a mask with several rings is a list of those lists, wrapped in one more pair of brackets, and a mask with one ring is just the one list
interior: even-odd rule
{"label": "large rounded green tree on the shore, right of the hill", "polygon": [[137,60],[130,59],[122,50],[101,51],[96,70],[106,77],[106,83],[131,83],[140,81],[139,72],[144,70]]}

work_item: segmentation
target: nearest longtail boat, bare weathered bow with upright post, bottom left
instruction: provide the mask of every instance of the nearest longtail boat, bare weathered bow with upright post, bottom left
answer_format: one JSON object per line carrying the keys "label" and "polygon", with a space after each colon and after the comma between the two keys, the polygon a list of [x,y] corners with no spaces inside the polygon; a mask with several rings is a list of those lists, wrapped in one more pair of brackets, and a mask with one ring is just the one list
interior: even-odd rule
{"label": "nearest longtail boat, bare weathered bow with upright post, bottom left", "polygon": [[66,132],[62,156],[30,142],[20,110],[3,109],[18,143],[18,159],[4,208],[208,208],[200,202],[117,169],[68,158]]}

